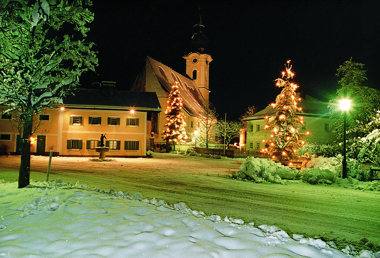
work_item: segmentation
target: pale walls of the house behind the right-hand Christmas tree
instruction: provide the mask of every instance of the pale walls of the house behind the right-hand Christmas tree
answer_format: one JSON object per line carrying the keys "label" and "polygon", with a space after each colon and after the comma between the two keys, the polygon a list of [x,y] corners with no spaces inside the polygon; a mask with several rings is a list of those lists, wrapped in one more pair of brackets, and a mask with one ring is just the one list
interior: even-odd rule
{"label": "pale walls of the house behind the right-hand Christmas tree", "polygon": [[[264,143],[263,139],[269,139],[270,133],[268,130],[263,130],[266,125],[265,119],[249,120],[246,127],[246,144],[244,145],[244,131],[242,131],[240,137],[240,149],[241,150],[255,150],[263,149]],[[301,133],[306,133],[309,131],[311,136],[306,136],[303,139],[306,142],[333,142],[335,137],[331,130],[325,131],[325,124],[328,124],[328,129],[331,128],[332,120],[324,117],[308,117],[304,116],[304,121],[306,123],[306,130],[301,130]],[[257,130],[257,126],[260,126],[260,130]],[[252,131],[253,129],[253,131]],[[326,128],[327,129],[327,128]]]}

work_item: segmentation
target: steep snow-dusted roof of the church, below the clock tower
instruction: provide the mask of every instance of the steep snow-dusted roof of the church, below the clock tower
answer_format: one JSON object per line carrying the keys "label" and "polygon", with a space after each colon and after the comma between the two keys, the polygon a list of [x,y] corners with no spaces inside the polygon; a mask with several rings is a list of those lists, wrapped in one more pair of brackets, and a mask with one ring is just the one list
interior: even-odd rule
{"label": "steep snow-dusted roof of the church, below the clock tower", "polygon": [[195,82],[187,75],[184,76],[149,56],[146,58],[144,69],[132,84],[131,91],[154,91],[158,97],[168,97],[174,81],[178,81],[183,108],[190,116],[199,116],[203,110],[200,103],[204,99]]}

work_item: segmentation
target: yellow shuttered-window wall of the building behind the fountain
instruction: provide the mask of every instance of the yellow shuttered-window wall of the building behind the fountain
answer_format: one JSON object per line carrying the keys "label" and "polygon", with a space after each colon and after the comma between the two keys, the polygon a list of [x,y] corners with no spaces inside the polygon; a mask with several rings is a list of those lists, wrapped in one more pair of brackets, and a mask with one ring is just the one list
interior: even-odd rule
{"label": "yellow shuttered-window wall of the building behind the fountain", "polygon": [[[36,152],[37,136],[46,137],[45,152],[52,150],[59,155],[73,156],[98,156],[94,149],[86,149],[86,141],[99,140],[101,134],[105,134],[105,141],[120,141],[119,150],[109,150],[106,156],[146,156],[146,112],[131,114],[130,111],[111,111],[98,109],[47,109],[44,114],[49,114],[48,121],[41,121],[40,126],[32,136],[31,152]],[[82,117],[81,124],[70,124],[71,116]],[[39,117],[38,115],[36,117]],[[89,124],[89,117],[101,117],[100,125]],[[119,125],[108,125],[108,117],[120,119]],[[138,118],[139,125],[127,125],[127,118]],[[37,121],[39,122],[39,121]],[[0,120],[0,128],[3,133],[11,134],[11,140],[0,140],[1,144],[7,144],[11,152],[16,151],[16,135],[19,134],[8,119]],[[82,148],[68,149],[67,140],[82,141]],[[139,150],[124,150],[124,141],[138,141]]]}

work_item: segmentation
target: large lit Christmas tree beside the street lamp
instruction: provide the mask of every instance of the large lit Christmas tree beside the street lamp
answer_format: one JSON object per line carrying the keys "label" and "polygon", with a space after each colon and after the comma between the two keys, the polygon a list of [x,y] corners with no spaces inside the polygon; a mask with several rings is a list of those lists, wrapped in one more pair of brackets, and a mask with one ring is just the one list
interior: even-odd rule
{"label": "large lit Christmas tree beside the street lamp", "polygon": [[[276,86],[283,87],[281,93],[276,97],[276,103],[271,106],[278,111],[275,116],[264,117],[268,120],[265,130],[271,131],[271,139],[263,140],[266,147],[261,150],[272,156],[273,159],[296,159],[296,152],[299,147],[305,144],[302,136],[309,136],[310,133],[299,133],[304,124],[303,117],[298,116],[295,112],[302,112],[302,108],[297,106],[301,98],[296,99],[295,90],[299,87],[292,83],[294,73],[289,67],[290,60],[285,64],[285,71],[282,72],[282,78],[275,80]],[[285,77],[285,78],[284,78]]]}

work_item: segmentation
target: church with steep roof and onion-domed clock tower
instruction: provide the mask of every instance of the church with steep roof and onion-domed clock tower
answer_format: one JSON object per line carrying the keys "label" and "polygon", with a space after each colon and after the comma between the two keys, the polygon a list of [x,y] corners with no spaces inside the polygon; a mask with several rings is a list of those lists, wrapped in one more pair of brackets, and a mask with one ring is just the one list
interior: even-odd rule
{"label": "church with steep roof and onion-domed clock tower", "polygon": [[150,128],[150,131],[147,130],[147,139],[154,138],[155,151],[164,152],[166,149],[166,141],[163,140],[161,134],[165,130],[165,110],[174,81],[178,81],[183,101],[182,111],[186,116],[187,133],[194,133],[199,127],[197,117],[202,113],[202,103],[209,101],[209,66],[212,58],[205,51],[208,39],[203,34],[204,25],[202,25],[200,16],[199,22],[193,28],[192,51],[183,56],[186,64],[185,75],[147,56],[144,67],[130,90],[156,92],[157,94],[162,111],[152,113],[152,116],[147,119],[147,128]]}

